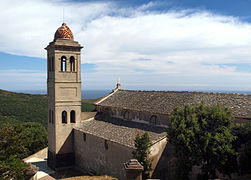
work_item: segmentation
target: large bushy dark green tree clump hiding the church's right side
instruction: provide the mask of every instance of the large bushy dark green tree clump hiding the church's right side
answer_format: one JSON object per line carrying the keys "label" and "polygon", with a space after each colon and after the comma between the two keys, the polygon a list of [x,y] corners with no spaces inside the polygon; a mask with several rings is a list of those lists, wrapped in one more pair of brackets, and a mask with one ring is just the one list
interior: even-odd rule
{"label": "large bushy dark green tree clump hiding the church's right side", "polygon": [[202,165],[205,179],[215,178],[216,170],[230,175],[229,159],[236,156],[231,134],[233,114],[219,104],[213,106],[185,105],[171,113],[167,130],[177,158],[177,179],[189,179],[194,165]]}

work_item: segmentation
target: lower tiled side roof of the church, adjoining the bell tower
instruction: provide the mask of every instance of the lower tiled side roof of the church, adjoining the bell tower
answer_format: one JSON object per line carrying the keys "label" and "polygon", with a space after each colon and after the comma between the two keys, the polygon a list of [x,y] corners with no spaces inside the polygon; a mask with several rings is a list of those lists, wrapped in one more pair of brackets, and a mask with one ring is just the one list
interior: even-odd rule
{"label": "lower tiled side roof of the church, adjoining the bell tower", "polygon": [[137,134],[142,135],[147,132],[153,144],[166,137],[164,128],[117,118],[110,118],[109,122],[102,119],[84,121],[82,126],[74,129],[132,148]]}

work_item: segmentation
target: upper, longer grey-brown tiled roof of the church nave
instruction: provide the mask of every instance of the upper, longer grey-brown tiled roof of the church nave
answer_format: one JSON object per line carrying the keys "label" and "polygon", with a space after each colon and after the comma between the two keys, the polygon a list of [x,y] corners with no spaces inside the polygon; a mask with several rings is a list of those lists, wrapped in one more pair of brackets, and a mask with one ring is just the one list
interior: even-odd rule
{"label": "upper, longer grey-brown tiled roof of the church nave", "polygon": [[119,107],[151,113],[170,114],[175,107],[204,102],[220,103],[230,108],[235,117],[251,118],[251,95],[238,93],[209,93],[189,91],[134,91],[119,89],[96,105]]}

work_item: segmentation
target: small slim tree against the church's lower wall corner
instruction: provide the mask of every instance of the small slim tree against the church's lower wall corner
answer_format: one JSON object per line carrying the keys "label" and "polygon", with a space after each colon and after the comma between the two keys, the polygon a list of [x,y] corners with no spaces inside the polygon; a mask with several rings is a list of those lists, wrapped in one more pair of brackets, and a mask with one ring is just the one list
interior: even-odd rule
{"label": "small slim tree against the church's lower wall corner", "polygon": [[149,159],[150,147],[152,146],[152,143],[149,135],[147,133],[144,133],[142,136],[138,134],[134,140],[134,145],[136,150],[133,151],[132,154],[134,158],[136,158],[144,167],[142,177],[143,179],[147,179],[149,178],[150,171],[152,170],[152,160]]}

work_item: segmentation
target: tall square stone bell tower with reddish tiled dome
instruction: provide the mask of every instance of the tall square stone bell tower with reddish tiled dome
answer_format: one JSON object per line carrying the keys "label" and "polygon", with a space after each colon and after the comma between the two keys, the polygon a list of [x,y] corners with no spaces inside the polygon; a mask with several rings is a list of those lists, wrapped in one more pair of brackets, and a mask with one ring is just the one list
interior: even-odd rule
{"label": "tall square stone bell tower with reddish tiled dome", "polygon": [[81,49],[63,23],[47,50],[48,166],[75,163],[73,127],[81,121]]}

